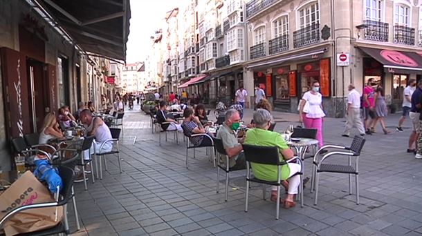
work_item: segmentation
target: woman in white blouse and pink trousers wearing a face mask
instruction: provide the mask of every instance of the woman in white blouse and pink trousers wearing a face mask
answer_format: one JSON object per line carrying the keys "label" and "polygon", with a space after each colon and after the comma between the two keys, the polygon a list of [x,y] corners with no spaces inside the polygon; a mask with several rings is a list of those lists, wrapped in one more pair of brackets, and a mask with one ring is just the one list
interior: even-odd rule
{"label": "woman in white blouse and pink trousers wearing a face mask", "polygon": [[[308,105],[305,106],[306,103]],[[304,123],[305,128],[315,128],[318,130],[317,139],[320,147],[324,146],[322,139],[322,117],[324,116],[320,83],[313,81],[311,90],[305,92],[300,100],[299,120]]]}

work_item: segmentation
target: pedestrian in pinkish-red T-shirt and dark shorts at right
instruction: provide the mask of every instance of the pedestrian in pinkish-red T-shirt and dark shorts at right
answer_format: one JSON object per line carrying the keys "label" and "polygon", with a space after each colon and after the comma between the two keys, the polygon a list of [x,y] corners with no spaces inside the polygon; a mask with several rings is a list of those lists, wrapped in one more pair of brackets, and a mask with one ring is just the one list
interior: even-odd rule
{"label": "pedestrian in pinkish-red T-shirt and dark shorts at right", "polygon": [[[368,135],[372,134],[371,124],[374,123],[376,118],[375,113],[375,90],[372,88],[376,86],[374,78],[369,78],[367,86],[363,88],[363,119],[365,119],[365,128]],[[371,120],[369,120],[371,117]]]}

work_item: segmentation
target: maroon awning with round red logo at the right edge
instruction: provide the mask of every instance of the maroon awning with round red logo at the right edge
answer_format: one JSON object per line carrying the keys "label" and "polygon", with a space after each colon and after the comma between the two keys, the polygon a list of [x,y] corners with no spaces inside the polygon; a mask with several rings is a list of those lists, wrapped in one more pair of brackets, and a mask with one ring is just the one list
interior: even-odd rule
{"label": "maroon awning with round red logo at the right edge", "polygon": [[412,70],[414,72],[422,71],[422,56],[415,52],[364,47],[359,48],[367,55],[382,63],[384,68],[392,68],[393,70]]}

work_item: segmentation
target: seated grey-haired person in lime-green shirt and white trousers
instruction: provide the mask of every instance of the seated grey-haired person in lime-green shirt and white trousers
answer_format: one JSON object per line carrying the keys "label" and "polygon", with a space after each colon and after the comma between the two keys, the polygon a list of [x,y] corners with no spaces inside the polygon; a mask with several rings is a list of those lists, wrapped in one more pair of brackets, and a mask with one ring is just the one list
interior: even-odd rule
{"label": "seated grey-haired person in lime-green shirt and white trousers", "polygon": [[[271,122],[271,114],[268,110],[258,109],[253,114],[255,121],[255,128],[246,132],[246,139],[244,144],[251,144],[257,146],[277,146],[279,149],[280,161],[293,158],[293,151],[288,148],[286,141],[277,132],[268,131]],[[288,188],[287,197],[284,200],[277,199],[277,187],[273,186],[271,192],[271,201],[280,200],[284,208],[291,208],[296,206],[293,196],[297,194],[297,187],[300,184],[300,176],[295,173],[300,172],[300,164],[288,163],[282,166],[280,178],[283,181],[283,186]],[[258,179],[266,181],[277,181],[277,166],[270,166],[265,164],[252,164],[253,175]],[[288,180],[285,181],[285,180]]]}

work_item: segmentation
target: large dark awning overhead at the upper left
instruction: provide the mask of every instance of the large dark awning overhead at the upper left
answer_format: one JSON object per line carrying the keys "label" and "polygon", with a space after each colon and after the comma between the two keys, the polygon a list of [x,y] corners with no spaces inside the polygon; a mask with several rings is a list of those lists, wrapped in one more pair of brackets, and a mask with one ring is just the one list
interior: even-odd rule
{"label": "large dark awning overhead at the upper left", "polygon": [[48,12],[84,52],[109,59],[126,59],[131,17],[129,0],[28,2],[40,14]]}

